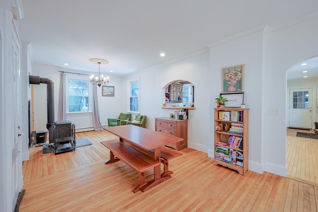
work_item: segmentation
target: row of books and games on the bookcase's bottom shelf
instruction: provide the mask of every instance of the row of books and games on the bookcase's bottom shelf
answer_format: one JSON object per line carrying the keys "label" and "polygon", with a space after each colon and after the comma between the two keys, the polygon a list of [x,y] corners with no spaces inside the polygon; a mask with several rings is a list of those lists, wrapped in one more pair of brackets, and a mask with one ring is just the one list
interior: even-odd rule
{"label": "row of books and games on the bookcase's bottom shelf", "polygon": [[[241,151],[234,150],[232,148],[225,148],[219,146],[220,148],[215,149],[215,159],[231,163],[233,165],[243,166],[243,153]],[[223,149],[220,151],[220,149]],[[224,151],[224,149],[228,149]]]}

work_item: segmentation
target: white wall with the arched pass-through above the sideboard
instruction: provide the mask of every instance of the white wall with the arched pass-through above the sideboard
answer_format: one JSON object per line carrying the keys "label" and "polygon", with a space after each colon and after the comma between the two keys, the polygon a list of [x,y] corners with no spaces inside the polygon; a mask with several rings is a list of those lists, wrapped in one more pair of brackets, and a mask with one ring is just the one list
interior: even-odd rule
{"label": "white wall with the arched pass-through above the sideboard", "polygon": [[[209,147],[209,53],[205,52],[172,64],[154,67],[147,71],[127,75],[123,78],[124,90],[127,81],[140,77],[140,112],[147,115],[147,128],[155,130],[156,117],[168,117],[175,110],[162,109],[163,88],[174,80],[187,80],[194,84],[195,110],[188,111],[188,147],[207,152]],[[127,98],[127,92],[125,98]]]}

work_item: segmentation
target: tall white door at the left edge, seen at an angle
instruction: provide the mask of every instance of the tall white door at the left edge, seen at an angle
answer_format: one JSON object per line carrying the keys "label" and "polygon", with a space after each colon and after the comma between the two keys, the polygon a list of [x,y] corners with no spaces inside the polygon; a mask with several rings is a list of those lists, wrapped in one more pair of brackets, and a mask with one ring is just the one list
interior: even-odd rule
{"label": "tall white door at the left edge, seen at an angle", "polygon": [[22,189],[22,139],[21,139],[21,43],[12,13],[5,12],[4,47],[4,134],[5,140],[5,193],[6,211],[14,211]]}

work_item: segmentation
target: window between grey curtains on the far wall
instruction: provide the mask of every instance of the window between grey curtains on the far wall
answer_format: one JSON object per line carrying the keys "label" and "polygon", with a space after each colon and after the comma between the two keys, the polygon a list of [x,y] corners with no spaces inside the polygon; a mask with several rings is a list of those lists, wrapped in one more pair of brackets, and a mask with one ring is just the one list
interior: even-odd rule
{"label": "window between grey curtains on the far wall", "polygon": [[69,79],[69,112],[89,111],[88,81]]}

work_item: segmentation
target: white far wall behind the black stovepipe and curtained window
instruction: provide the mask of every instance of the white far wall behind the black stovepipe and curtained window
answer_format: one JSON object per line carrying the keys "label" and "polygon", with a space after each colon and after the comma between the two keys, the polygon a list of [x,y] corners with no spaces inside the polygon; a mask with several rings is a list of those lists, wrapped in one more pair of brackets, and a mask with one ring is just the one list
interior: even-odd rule
{"label": "white far wall behind the black stovepipe and curtained window", "polygon": [[[97,69],[97,68],[96,68]],[[59,104],[59,89],[60,89],[60,72],[81,72],[68,69],[59,69],[53,67],[35,66],[33,67],[32,75],[37,75],[43,78],[49,78],[54,82],[54,110],[55,121],[58,121],[58,104]],[[89,79],[88,75],[78,75],[66,73],[69,77]],[[86,73],[87,74],[87,73]],[[98,106],[100,121],[103,126],[106,126],[107,118],[115,118],[120,112],[126,111],[126,102],[122,102],[121,78],[110,76],[109,86],[115,86],[114,97],[102,97],[101,87],[97,86]],[[34,130],[40,131],[46,129],[47,124],[47,101],[46,101],[47,85],[40,83],[34,84]],[[76,126],[76,131],[93,130],[93,121],[91,112],[88,113],[69,113],[67,120],[71,121]]]}

